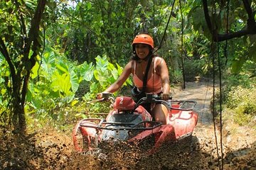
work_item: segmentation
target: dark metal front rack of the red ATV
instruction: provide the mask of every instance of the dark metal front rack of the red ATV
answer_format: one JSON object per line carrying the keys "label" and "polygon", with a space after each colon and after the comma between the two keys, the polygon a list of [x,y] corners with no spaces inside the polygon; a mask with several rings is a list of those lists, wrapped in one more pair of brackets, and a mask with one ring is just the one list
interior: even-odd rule
{"label": "dark metal front rack of the red ATV", "polygon": [[[97,125],[88,125],[88,122],[98,122]],[[146,126],[145,126],[146,125]],[[140,123],[114,123],[106,122],[100,118],[87,118],[80,121],[80,127],[100,130],[153,130],[162,125],[156,121],[142,121]]]}

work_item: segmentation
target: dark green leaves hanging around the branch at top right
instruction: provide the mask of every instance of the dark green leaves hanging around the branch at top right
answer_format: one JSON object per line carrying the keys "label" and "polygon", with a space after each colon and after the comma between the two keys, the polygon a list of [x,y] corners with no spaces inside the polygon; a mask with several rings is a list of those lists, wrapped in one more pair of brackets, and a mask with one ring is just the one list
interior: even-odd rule
{"label": "dark green leaves hanging around the branch at top right", "polygon": [[[256,4],[253,1],[251,3],[252,4],[250,5],[252,6],[253,11]],[[208,2],[209,17],[213,29],[217,29],[219,34],[226,33],[227,28],[229,33],[235,33],[246,27],[247,13],[244,10],[244,4],[242,1],[230,1],[228,20],[227,4],[222,1],[215,1],[215,6],[212,4],[213,1]],[[191,18],[193,29],[211,41],[212,35],[210,34],[205,18],[201,17],[202,13],[202,4],[197,1],[193,1],[188,18]],[[242,38],[228,40],[228,52],[226,52],[227,58],[222,60],[220,64],[227,65],[232,68],[231,71],[233,74],[241,72],[243,65],[248,60],[255,62],[255,39],[255,35],[245,35]],[[225,48],[225,42],[219,42],[219,45],[220,54],[222,55],[225,52],[223,50]]]}

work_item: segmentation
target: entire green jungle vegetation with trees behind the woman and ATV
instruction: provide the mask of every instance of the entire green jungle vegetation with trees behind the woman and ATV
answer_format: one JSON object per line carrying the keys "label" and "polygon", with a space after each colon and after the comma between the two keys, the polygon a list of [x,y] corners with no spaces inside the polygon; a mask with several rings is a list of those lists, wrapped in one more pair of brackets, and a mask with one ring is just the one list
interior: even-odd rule
{"label": "entire green jungle vegetation with trees behind the woman and ATV", "polygon": [[[107,111],[86,101],[121,74],[138,33],[154,37],[171,84],[222,78],[226,107],[244,115],[238,122],[250,121],[255,11],[251,0],[1,1],[0,124],[22,132],[35,125],[66,128],[89,111]],[[129,79],[116,95],[130,86]]]}

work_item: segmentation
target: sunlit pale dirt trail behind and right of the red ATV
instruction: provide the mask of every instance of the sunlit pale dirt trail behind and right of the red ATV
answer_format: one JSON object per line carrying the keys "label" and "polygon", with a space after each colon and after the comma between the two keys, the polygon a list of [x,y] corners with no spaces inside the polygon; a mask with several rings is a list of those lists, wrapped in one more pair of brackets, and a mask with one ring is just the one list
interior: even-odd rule
{"label": "sunlit pale dirt trail behind and right of the red ATV", "polygon": [[[218,91],[218,85],[215,85],[216,91]],[[217,123],[214,127],[210,108],[213,98],[212,81],[187,82],[186,89],[174,88],[172,93],[176,99],[186,98],[197,101],[194,110],[198,113],[199,119],[193,135],[198,139],[197,145],[200,149],[198,155],[201,161],[197,163],[205,162],[203,169],[256,169],[255,130],[235,125],[228,119],[223,120],[223,130],[220,134],[219,116],[215,118]],[[223,114],[228,113],[223,111]],[[193,166],[188,169],[193,169]]]}

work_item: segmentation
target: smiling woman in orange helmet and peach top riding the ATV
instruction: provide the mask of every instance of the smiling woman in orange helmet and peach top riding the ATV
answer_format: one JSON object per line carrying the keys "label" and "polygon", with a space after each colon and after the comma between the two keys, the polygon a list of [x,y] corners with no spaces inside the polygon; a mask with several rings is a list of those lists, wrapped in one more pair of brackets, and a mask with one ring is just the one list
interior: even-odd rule
{"label": "smiling woman in orange helmet and peach top riding the ATV", "polygon": [[[169,72],[164,59],[153,55],[153,38],[147,34],[139,34],[134,38],[132,47],[134,53],[133,59],[124,67],[124,70],[117,81],[104,92],[113,93],[114,91],[117,91],[131,74],[134,85],[137,86],[137,90],[142,91],[146,66],[148,62],[151,61],[146,83],[146,93],[161,94],[164,100],[168,100],[170,91]],[[150,57],[152,57],[152,60],[149,60]],[[97,95],[97,98],[100,97],[100,94]],[[161,103],[149,103],[149,108],[147,108],[147,106],[145,106],[145,108],[151,113],[154,120],[166,124],[168,115],[166,106]]]}

